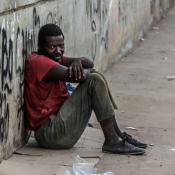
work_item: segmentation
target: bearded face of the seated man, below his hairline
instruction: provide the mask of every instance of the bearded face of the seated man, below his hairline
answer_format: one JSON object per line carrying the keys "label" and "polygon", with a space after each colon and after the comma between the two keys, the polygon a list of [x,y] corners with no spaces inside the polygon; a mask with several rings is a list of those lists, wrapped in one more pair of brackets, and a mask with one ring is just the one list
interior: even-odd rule
{"label": "bearded face of the seated man, below his hairline", "polygon": [[64,54],[64,38],[62,35],[46,36],[44,50],[54,59],[59,60]]}

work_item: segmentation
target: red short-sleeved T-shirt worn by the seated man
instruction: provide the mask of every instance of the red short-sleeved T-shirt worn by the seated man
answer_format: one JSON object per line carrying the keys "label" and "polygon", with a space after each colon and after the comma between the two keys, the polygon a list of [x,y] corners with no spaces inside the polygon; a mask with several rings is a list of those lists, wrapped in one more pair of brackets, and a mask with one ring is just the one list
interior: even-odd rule
{"label": "red short-sleeved T-shirt worn by the seated man", "polygon": [[24,100],[30,129],[41,127],[51,114],[58,112],[69,96],[64,81],[43,81],[47,72],[61,61],[58,63],[36,53],[26,61]]}

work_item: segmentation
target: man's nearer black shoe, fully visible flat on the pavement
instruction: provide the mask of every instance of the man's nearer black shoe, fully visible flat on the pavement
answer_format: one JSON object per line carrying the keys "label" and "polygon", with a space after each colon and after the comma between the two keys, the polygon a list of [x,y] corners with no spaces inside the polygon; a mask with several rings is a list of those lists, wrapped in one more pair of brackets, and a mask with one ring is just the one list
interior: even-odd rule
{"label": "man's nearer black shoe, fully visible flat on the pavement", "polygon": [[102,151],[106,153],[125,154],[125,155],[142,155],[145,153],[144,149],[135,147],[134,145],[127,143],[125,140],[118,141],[112,144],[107,144],[105,142],[103,144]]}

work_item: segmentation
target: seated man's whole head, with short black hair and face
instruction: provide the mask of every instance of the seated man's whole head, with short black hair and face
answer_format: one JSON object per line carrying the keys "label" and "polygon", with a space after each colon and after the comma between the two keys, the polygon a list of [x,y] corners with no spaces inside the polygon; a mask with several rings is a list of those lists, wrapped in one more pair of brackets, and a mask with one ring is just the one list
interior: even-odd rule
{"label": "seated man's whole head, with short black hair and face", "polygon": [[64,35],[56,24],[46,24],[38,34],[38,52],[59,60],[64,54]]}

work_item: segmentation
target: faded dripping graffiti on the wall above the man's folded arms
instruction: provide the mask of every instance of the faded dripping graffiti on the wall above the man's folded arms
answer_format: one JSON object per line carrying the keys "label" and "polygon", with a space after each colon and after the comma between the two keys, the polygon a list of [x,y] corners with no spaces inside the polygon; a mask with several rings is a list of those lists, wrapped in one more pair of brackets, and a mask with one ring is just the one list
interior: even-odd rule
{"label": "faded dripping graffiti on the wall above the man's folded arms", "polygon": [[[106,22],[109,18],[109,0],[86,0],[86,13],[90,20],[93,40],[91,43],[92,58],[98,56],[99,46],[103,46],[105,51],[108,50],[108,25]],[[100,36],[100,38],[99,38]]]}

